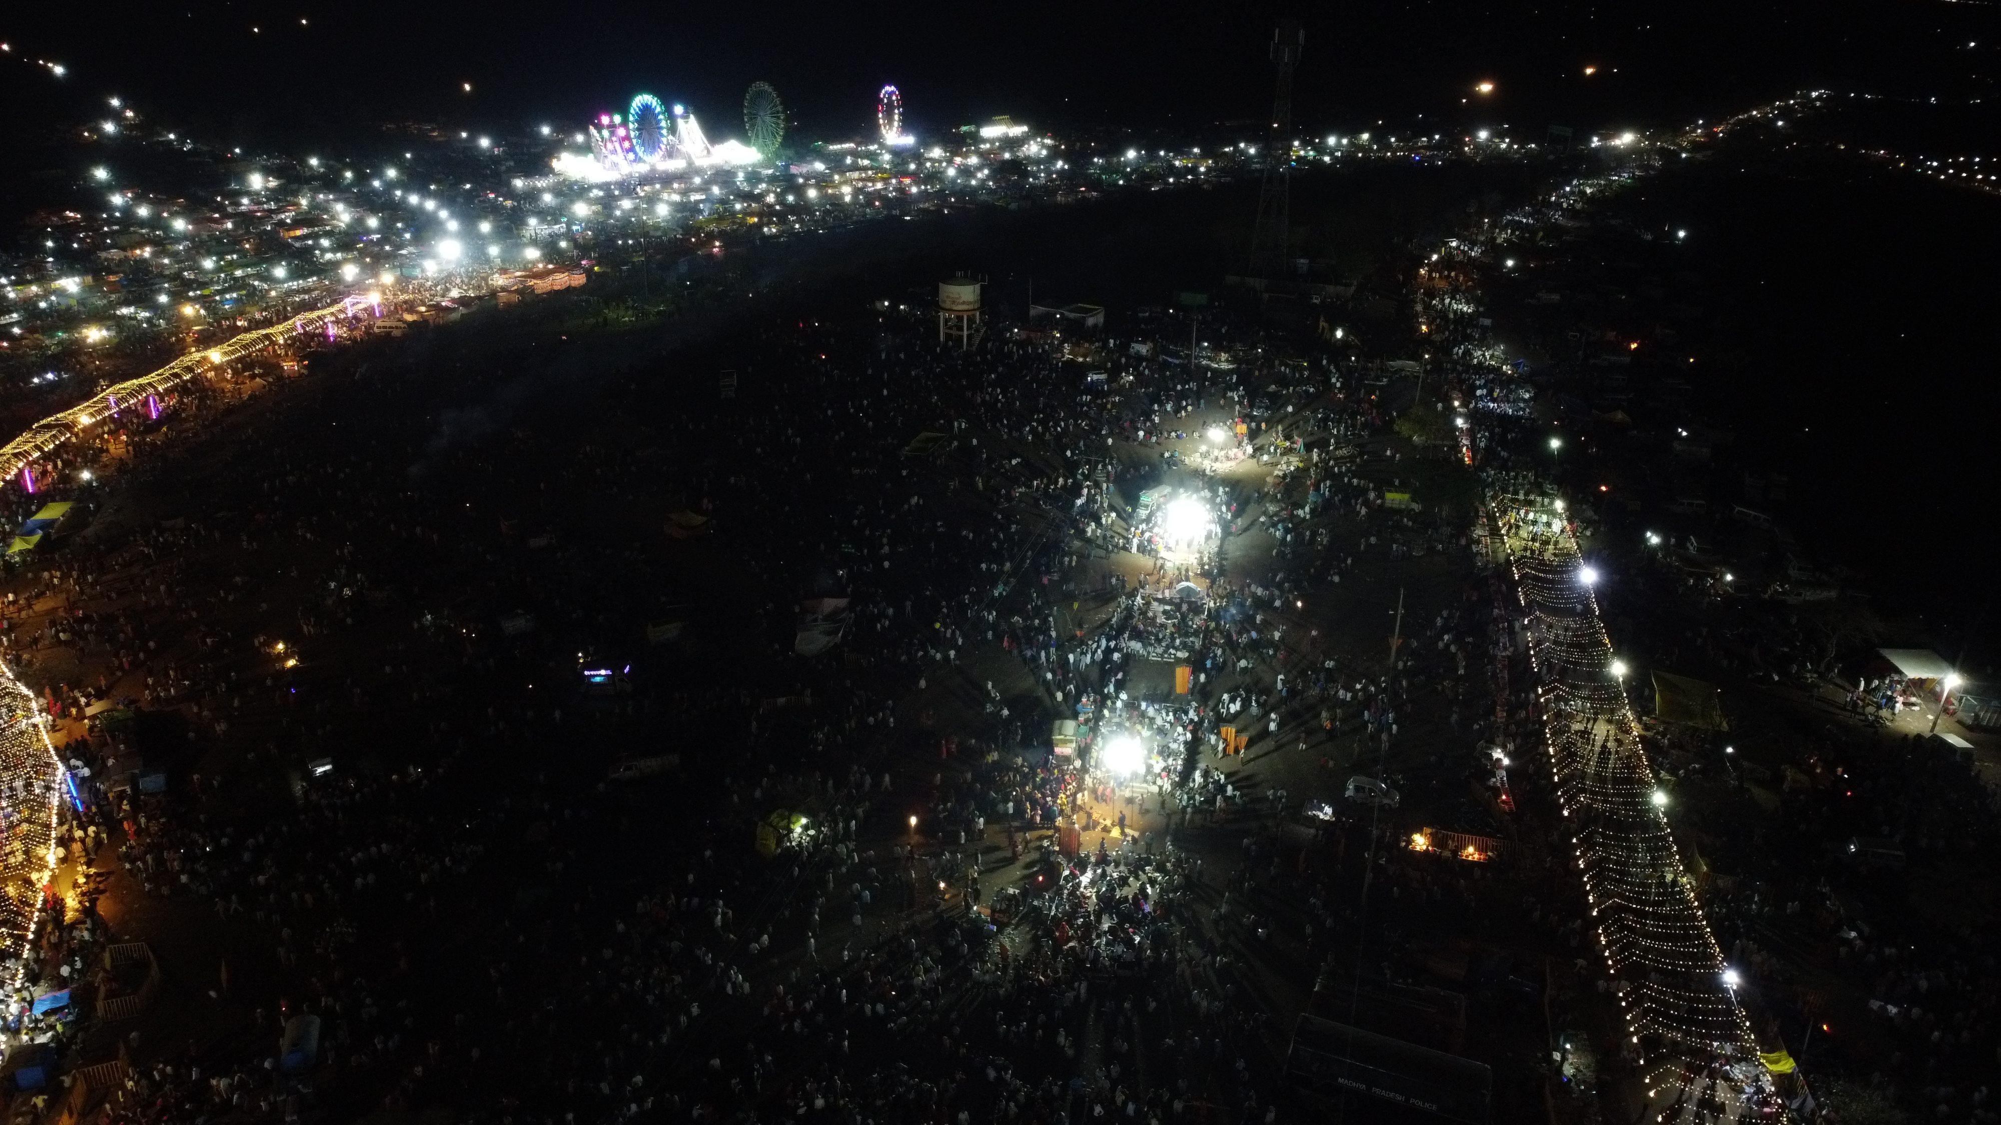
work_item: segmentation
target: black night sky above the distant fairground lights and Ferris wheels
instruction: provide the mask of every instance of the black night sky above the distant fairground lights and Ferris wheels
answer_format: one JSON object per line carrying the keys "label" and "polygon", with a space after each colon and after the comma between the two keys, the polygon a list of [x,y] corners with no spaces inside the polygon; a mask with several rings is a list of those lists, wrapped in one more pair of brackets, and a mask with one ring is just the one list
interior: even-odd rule
{"label": "black night sky above the distant fairground lights and Ferris wheels", "polygon": [[[1993,86],[2001,8],[1869,4],[44,4],[0,28],[14,128],[106,94],[238,144],[326,144],[380,120],[504,132],[636,90],[738,128],[744,88],[794,136],[872,124],[902,88],[920,134],[1013,114],[1041,128],[1255,128],[1273,20],[1299,16],[1303,132],[1721,116],[1797,88],[1949,96]],[[304,20],[304,22],[302,22]],[[256,30],[252,30],[256,28]],[[1987,42],[1991,40],[1991,42]],[[1971,46],[1969,46],[1971,44]],[[1585,76],[1585,66],[1597,74]],[[464,84],[472,92],[464,92]],[[1491,98],[1471,94],[1495,82]],[[1465,98],[1465,100],[1463,100]],[[1419,116],[1423,114],[1423,116]],[[358,136],[358,132],[354,132]]]}

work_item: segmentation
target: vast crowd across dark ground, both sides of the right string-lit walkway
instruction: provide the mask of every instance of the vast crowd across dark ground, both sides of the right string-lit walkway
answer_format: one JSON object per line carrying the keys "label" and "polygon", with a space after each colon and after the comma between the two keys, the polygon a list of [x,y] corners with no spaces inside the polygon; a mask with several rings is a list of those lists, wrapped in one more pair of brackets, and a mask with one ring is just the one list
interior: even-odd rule
{"label": "vast crowd across dark ground, both sides of the right string-lit walkway", "polygon": [[[6,581],[6,659],[80,781],[18,1001],[112,941],[152,947],[162,1001],[14,1037],[124,1061],[106,1125],[1271,1123],[1325,1109],[1293,1017],[1429,987],[1473,997],[1433,1045],[1495,1065],[1497,1105],[1631,1085],[1585,1045],[1617,1001],[1451,484],[1543,484],[1527,382],[1471,312],[1431,320],[1429,392],[1229,322],[1191,366],[1161,328],[956,348],[876,306],[660,360],[466,322],[130,420],[90,520]],[[1399,410],[1477,424],[1417,444]],[[1199,542],[1153,534],[1163,486]],[[836,645],[800,655],[828,601]],[[1927,1097],[1987,1113],[1981,917],[1903,933],[1815,851],[1903,817],[1919,861],[1977,855],[1973,775],[1835,733],[1773,811],[1743,773],[1773,753],[1673,747],[1777,1033],[1859,995],[1787,983],[1831,919],[1899,1037],[1885,1081],[1923,1055]],[[1847,1065],[1849,1035],[1795,1053]]]}

